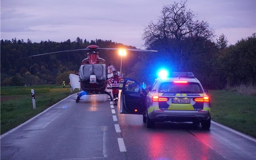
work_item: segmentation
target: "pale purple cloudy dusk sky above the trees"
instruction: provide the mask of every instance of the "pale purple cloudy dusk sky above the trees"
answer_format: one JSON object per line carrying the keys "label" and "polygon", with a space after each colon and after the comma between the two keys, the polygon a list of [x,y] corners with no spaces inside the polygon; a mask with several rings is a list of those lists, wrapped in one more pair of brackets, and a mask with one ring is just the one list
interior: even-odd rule
{"label": "pale purple cloudy dusk sky above the trees", "polygon": [[[172,0],[1,0],[1,39],[112,40],[144,48],[141,35]],[[180,1],[176,1],[180,2]],[[255,0],[188,0],[187,8],[228,44],[256,32]],[[216,39],[215,38],[215,39]]]}

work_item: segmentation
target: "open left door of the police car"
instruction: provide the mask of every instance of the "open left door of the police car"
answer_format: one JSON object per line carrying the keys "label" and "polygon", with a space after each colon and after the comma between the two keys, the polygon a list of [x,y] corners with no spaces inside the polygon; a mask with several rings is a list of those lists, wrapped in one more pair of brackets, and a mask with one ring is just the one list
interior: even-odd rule
{"label": "open left door of the police car", "polygon": [[133,79],[125,78],[121,92],[120,113],[145,114],[145,90]]}

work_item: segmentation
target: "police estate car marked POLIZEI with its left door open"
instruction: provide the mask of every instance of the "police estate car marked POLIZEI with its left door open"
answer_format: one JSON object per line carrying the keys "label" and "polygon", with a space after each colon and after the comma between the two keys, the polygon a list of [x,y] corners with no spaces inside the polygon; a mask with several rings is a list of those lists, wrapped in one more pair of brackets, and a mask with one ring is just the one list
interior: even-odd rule
{"label": "police estate car marked POLIZEI with its left door open", "polygon": [[[137,85],[124,87],[129,81]],[[157,78],[148,92],[135,80],[126,78],[120,113],[143,115],[147,127],[154,127],[155,122],[172,121],[201,123],[203,129],[209,129],[211,105],[207,92],[191,72]]]}

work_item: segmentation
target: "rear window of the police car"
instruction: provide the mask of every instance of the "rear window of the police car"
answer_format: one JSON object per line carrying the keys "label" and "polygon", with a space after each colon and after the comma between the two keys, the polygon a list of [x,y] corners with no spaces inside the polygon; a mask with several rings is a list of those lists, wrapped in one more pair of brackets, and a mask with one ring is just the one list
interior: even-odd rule
{"label": "rear window of the police car", "polygon": [[173,82],[164,82],[160,85],[159,93],[203,93],[200,85],[194,82],[187,84],[175,84]]}

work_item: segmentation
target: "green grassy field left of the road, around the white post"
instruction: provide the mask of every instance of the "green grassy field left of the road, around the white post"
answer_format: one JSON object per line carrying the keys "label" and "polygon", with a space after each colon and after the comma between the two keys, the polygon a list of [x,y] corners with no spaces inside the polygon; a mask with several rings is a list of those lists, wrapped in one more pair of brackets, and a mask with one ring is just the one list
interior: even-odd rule
{"label": "green grassy field left of the road, around the white post", "polygon": [[[33,109],[31,89],[35,91],[36,109]],[[60,85],[1,87],[1,134],[74,93]]]}

